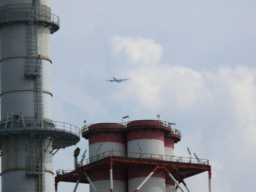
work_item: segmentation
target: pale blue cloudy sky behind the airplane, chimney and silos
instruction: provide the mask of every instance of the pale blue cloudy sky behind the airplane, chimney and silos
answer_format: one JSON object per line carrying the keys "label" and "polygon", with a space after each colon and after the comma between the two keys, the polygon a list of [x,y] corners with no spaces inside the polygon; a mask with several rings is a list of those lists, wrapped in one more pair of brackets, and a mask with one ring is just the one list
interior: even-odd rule
{"label": "pale blue cloudy sky behind the airplane, chimney and silos", "polygon": [[[159,114],[182,133],[175,155],[189,156],[189,147],[209,159],[212,191],[253,191],[255,1],[55,0],[51,8],[61,18],[51,36],[53,120],[82,127]],[[132,79],[104,81],[114,75]],[[88,141],[59,150],[54,171],[73,169],[77,147]],[[207,191],[207,179],[185,181]]]}

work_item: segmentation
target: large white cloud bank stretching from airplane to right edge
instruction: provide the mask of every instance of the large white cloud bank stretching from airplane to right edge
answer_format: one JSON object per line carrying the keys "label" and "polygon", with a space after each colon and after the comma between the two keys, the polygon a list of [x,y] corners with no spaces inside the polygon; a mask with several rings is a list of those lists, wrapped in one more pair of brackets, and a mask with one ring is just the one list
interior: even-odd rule
{"label": "large white cloud bank stretching from airplane to right edge", "polygon": [[121,54],[125,50],[127,58],[137,64],[127,71],[132,80],[124,85],[122,92],[116,93],[117,99],[121,98],[120,94],[130,94],[144,106],[175,106],[179,111],[199,104],[214,106],[220,101],[223,102],[220,104],[229,103],[227,107],[235,112],[237,131],[250,148],[256,147],[255,141],[249,139],[252,135],[256,136],[255,68],[221,67],[217,71],[200,72],[183,66],[155,65],[152,58],[160,61],[162,48],[152,39],[122,36],[114,36],[113,39],[114,52]]}

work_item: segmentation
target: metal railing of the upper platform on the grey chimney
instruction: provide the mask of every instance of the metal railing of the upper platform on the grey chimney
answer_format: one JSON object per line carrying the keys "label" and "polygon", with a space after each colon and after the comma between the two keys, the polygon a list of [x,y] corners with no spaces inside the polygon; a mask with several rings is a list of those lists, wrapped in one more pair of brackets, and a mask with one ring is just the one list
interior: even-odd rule
{"label": "metal railing of the upper platform on the grey chimney", "polygon": [[8,23],[12,21],[43,21],[59,26],[59,17],[55,14],[45,12],[31,12],[31,11],[11,11],[0,13],[0,23]]}

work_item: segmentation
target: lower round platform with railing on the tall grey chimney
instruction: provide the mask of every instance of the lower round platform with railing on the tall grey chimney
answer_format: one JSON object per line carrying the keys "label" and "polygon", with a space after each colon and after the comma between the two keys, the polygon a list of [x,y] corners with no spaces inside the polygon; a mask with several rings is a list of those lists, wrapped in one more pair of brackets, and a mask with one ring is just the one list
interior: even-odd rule
{"label": "lower round platform with railing on the tall grey chimney", "polygon": [[0,124],[0,137],[19,134],[38,134],[53,139],[53,149],[76,145],[80,140],[80,129],[59,121],[5,121]]}

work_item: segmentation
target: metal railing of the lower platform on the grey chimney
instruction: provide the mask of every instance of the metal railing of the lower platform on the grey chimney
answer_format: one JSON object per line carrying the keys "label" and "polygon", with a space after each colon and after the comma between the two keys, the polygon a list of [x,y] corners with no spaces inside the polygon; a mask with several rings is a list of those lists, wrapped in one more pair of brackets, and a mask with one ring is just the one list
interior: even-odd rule
{"label": "metal railing of the lower platform on the grey chimney", "polygon": [[51,131],[62,131],[65,133],[71,133],[80,137],[79,127],[70,123],[60,121],[28,121],[28,120],[10,120],[2,121],[0,124],[0,131],[7,131],[11,129],[24,129],[24,130],[51,130]]}

